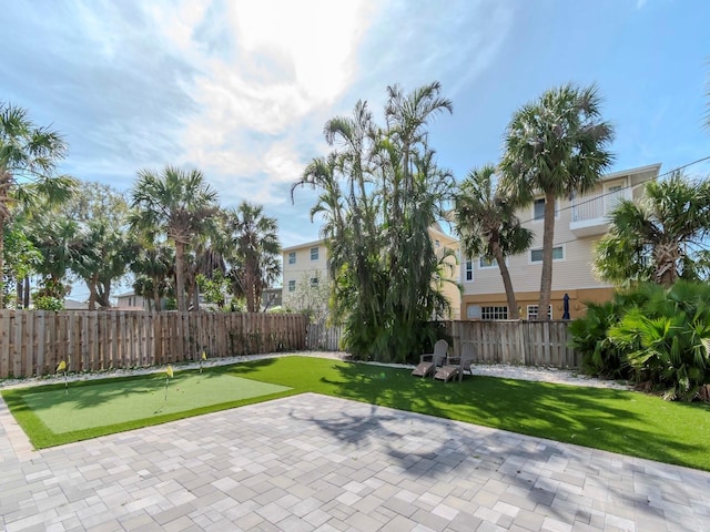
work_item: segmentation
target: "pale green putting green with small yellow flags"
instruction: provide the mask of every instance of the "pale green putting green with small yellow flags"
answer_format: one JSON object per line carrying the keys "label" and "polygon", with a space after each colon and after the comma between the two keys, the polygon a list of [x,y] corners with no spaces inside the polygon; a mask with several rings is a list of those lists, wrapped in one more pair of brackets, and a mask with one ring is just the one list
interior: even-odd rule
{"label": "pale green putting green with small yellow flags", "polygon": [[132,379],[67,390],[26,392],[26,406],[55,434],[159,418],[189,410],[267,396],[291,388],[227,374],[175,372],[168,379]]}

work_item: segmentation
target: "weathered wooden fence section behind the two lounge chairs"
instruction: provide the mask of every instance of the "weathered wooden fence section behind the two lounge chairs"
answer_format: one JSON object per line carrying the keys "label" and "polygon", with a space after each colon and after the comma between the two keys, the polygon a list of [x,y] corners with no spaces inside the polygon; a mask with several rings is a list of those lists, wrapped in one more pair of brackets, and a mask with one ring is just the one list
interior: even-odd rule
{"label": "weathered wooden fence section behind the two lounge chairs", "polygon": [[581,355],[569,347],[569,321],[445,321],[459,354],[463,341],[476,346],[476,362],[580,368]]}

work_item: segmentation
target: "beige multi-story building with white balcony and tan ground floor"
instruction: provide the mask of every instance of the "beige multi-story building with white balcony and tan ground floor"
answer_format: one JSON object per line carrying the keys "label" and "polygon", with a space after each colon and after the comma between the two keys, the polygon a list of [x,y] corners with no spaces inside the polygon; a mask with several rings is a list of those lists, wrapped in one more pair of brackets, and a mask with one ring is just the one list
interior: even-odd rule
{"label": "beige multi-story building with white balcony and tan ground floor", "polygon": [[[586,301],[600,303],[611,298],[613,286],[594,275],[595,243],[609,228],[607,214],[622,198],[639,201],[643,195],[643,183],[657,178],[660,166],[651,164],[607,174],[592,191],[558,201],[552,248],[551,319],[567,318],[564,316],[565,295],[568,296],[570,319],[585,314]],[[517,213],[524,226],[535,232],[535,238],[526,253],[507,258],[516,301],[524,319],[537,318],[544,212],[545,197],[540,195],[529,207]],[[460,263],[462,317],[508,319],[498,265],[483,257],[463,257]]]}

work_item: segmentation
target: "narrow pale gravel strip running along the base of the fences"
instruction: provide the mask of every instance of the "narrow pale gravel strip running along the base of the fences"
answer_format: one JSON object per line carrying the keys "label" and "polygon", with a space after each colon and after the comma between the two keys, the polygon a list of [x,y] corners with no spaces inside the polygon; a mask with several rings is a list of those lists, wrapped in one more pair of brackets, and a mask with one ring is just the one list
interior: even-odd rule
{"label": "narrow pale gravel strip running along the base of the fences", "polygon": [[[347,355],[339,351],[298,351],[298,352],[271,352],[266,355],[245,355],[241,357],[225,357],[220,359],[206,360],[202,364],[204,368],[213,366],[225,366],[230,364],[245,362],[248,360],[257,360],[262,358],[275,358],[275,357],[316,357],[316,358],[332,358],[336,360],[344,360]],[[377,364],[377,362],[362,362],[362,364]],[[398,368],[414,368],[412,365],[402,364],[378,364],[379,366],[398,367]],[[196,369],[200,367],[200,362],[180,362],[173,365],[175,369]],[[78,380],[94,380],[106,377],[126,377],[132,375],[146,375],[164,371],[165,367],[150,367],[150,368],[135,368],[135,369],[112,369],[108,371],[100,371],[94,374],[70,374],[67,376],[69,382]],[[594,377],[581,375],[577,371],[570,371],[557,368],[540,368],[529,366],[513,366],[509,364],[477,364],[473,366],[474,375],[481,375],[486,377],[500,377],[506,379],[517,380],[535,380],[541,382],[556,382],[574,386],[588,386],[594,388],[613,388],[619,390],[630,390],[631,387],[617,382],[613,380],[602,380]],[[24,388],[38,385],[50,385],[54,382],[63,382],[63,376],[44,376],[32,377],[27,379],[3,379],[0,380],[0,389],[9,388]]]}

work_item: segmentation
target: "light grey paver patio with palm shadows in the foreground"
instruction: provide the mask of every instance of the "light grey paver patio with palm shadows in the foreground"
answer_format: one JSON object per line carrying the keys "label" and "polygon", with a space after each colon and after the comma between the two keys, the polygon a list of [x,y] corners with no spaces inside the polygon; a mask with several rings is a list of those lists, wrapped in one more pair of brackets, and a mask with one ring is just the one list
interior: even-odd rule
{"label": "light grey paver patio with palm shadows in the foreground", "polygon": [[43,451],[0,399],[0,444],[8,532],[710,526],[710,473],[315,393]]}

